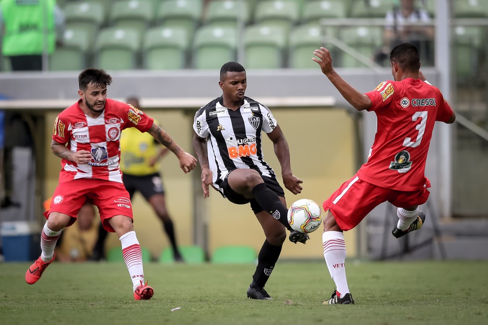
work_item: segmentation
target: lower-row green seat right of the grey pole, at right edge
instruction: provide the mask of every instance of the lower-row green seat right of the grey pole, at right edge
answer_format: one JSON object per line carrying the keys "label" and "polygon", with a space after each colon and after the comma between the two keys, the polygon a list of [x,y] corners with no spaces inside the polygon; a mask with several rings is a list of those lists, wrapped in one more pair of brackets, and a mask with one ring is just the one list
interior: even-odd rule
{"label": "lower-row green seat right of the grey pole, at right edge", "polygon": [[457,83],[471,81],[478,74],[481,45],[486,40],[483,27],[456,26],[452,38]]}

